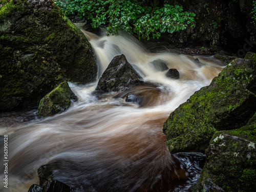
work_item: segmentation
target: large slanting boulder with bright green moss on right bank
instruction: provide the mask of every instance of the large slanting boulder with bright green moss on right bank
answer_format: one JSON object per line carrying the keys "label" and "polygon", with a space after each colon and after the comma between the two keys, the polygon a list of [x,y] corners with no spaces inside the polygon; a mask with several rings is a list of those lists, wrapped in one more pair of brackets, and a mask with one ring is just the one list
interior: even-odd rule
{"label": "large slanting boulder with bright green moss on right bank", "polygon": [[204,152],[216,130],[245,125],[256,111],[255,94],[256,60],[233,60],[164,122],[169,151]]}

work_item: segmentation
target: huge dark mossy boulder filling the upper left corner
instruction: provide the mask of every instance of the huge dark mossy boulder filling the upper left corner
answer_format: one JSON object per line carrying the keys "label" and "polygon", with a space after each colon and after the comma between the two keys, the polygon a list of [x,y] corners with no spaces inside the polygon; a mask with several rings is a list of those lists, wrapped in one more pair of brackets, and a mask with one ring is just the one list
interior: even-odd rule
{"label": "huge dark mossy boulder filling the upper left corner", "polygon": [[96,79],[89,41],[52,0],[5,0],[0,15],[0,111],[36,106],[63,80]]}

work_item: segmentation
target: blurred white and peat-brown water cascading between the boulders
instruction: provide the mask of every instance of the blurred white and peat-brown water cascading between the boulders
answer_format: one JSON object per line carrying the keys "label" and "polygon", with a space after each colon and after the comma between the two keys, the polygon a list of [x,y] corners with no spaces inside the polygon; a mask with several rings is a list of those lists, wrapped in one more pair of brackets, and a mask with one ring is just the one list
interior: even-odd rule
{"label": "blurred white and peat-brown water cascading between the boulders", "polygon": [[[188,169],[193,168],[187,166],[193,162],[170,155],[162,124],[218,75],[222,63],[212,57],[148,53],[124,34],[98,37],[83,32],[95,51],[99,76],[114,56],[124,54],[148,83],[101,97],[93,94],[97,82],[69,83],[79,100],[61,114],[44,119],[36,118],[35,110],[1,114],[0,134],[8,134],[9,162],[8,189],[0,182],[0,190],[28,191],[39,184],[37,169],[50,164],[53,179],[78,191],[189,191],[186,183],[195,181],[199,169],[190,177]],[[159,59],[177,69],[180,79],[157,70],[154,61]],[[129,94],[144,103],[126,102]],[[32,120],[23,122],[27,118]],[[3,150],[0,158],[3,162]],[[3,181],[2,170],[3,163]]]}

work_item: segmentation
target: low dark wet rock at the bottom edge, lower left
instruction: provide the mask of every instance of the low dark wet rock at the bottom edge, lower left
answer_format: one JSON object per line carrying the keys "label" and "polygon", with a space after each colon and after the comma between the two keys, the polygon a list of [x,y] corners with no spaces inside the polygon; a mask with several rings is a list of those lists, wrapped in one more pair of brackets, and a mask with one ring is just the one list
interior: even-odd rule
{"label": "low dark wet rock at the bottom edge, lower left", "polygon": [[66,185],[65,183],[55,180],[55,181],[47,181],[44,186],[34,184],[29,188],[28,192],[52,192],[52,191],[74,192],[76,190]]}

